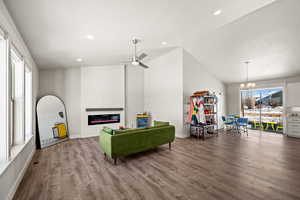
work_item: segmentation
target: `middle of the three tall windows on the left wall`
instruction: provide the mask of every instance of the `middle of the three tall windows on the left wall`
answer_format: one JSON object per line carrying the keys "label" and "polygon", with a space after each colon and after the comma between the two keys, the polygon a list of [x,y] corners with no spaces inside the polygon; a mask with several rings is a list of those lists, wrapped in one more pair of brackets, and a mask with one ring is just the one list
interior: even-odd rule
{"label": "middle of the three tall windows on the left wall", "polygon": [[25,139],[25,68],[22,56],[15,48],[10,49],[10,147],[23,144]]}

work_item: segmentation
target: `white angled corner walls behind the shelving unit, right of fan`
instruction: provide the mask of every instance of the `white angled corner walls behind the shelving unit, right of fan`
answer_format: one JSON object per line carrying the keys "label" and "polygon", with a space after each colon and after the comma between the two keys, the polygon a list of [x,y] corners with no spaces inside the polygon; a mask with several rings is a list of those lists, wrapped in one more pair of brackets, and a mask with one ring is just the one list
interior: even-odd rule
{"label": "white angled corner walls behind the shelving unit, right of fan", "polygon": [[185,126],[185,103],[195,91],[209,90],[219,97],[219,124],[225,114],[225,85],[206,71],[201,63],[182,48],[155,58],[147,63],[145,76],[145,111],[153,120],[170,121],[176,126],[176,137],[188,137]]}

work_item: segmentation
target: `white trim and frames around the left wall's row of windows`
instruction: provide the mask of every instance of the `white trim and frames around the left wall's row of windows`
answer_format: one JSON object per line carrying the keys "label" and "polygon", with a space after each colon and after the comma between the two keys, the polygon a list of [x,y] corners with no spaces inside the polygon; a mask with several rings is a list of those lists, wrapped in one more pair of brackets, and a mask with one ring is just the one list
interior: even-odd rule
{"label": "white trim and frames around the left wall's row of windows", "polygon": [[[0,62],[0,67],[1,67],[1,74],[0,74],[0,82],[1,82],[1,95],[3,96],[3,98],[1,99],[1,112],[2,112],[2,116],[3,117],[3,123],[2,123],[2,129],[0,130],[0,176],[3,173],[4,170],[6,170],[7,166],[9,166],[9,164],[16,158],[16,156],[24,149],[24,147],[30,142],[32,141],[32,138],[34,138],[34,125],[35,125],[35,98],[33,96],[34,94],[34,87],[33,87],[33,68],[31,65],[27,64],[25,57],[23,56],[23,54],[19,51],[19,49],[17,48],[16,45],[14,45],[13,41],[11,40],[11,38],[9,37],[8,32],[6,32],[5,29],[3,29],[3,27],[0,25],[0,38],[1,38],[1,61]],[[4,41],[4,43],[2,43],[2,41]],[[11,135],[14,134],[12,131],[12,109],[11,109],[11,100],[12,100],[12,63],[11,63],[11,50],[14,51],[14,53],[18,56],[18,58],[20,58],[21,63],[18,66],[21,66],[21,70],[20,72],[22,73],[22,75],[20,74],[19,77],[17,77],[17,80],[19,80],[18,78],[22,77],[21,80],[22,83],[20,83],[19,88],[20,91],[22,91],[22,98],[21,101],[19,101],[19,105],[22,105],[21,107],[21,111],[20,111],[20,119],[23,120],[22,122],[22,126],[19,126],[19,131],[21,130],[22,132],[22,136],[19,137],[19,143],[15,144],[15,145],[10,145],[11,144]],[[26,66],[27,68],[30,70],[30,95],[31,98],[29,101],[31,101],[30,105],[30,124],[31,124],[31,128],[30,128],[30,134],[28,134],[28,138],[26,136],[26,130],[25,130],[25,120],[26,120],[26,108],[25,108],[25,90],[26,90]],[[18,68],[20,69],[20,68]],[[28,94],[27,94],[28,95]],[[19,120],[19,119],[18,119]]]}

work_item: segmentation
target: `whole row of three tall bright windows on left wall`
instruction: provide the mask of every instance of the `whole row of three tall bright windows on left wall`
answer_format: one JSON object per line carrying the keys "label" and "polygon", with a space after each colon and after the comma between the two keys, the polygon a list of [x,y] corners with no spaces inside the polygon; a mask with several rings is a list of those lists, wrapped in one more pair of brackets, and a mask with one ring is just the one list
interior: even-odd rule
{"label": "whole row of three tall bright windows on left wall", "polygon": [[0,164],[31,138],[32,123],[32,70],[0,28]]}

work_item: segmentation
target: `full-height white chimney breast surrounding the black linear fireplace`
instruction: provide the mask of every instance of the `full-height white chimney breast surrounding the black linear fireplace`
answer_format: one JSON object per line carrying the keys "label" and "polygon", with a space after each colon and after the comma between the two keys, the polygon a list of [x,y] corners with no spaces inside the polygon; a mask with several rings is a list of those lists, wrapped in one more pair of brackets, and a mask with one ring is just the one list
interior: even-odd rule
{"label": "full-height white chimney breast surrounding the black linear fireplace", "polygon": [[[87,108],[123,108],[123,111],[87,112]],[[88,126],[88,114],[120,114],[120,123]],[[124,65],[81,68],[81,136],[99,135],[103,126],[125,126]]]}

